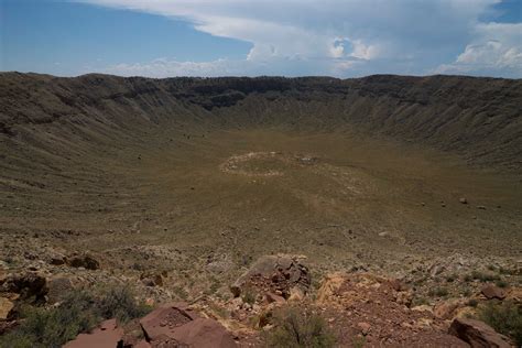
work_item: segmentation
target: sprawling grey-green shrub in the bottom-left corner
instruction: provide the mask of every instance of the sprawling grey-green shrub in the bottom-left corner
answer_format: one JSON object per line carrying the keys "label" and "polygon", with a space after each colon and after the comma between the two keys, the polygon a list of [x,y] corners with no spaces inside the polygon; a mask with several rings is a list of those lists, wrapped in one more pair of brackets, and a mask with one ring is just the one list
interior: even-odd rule
{"label": "sprawling grey-green shrub in the bottom-left corner", "polygon": [[59,306],[26,307],[21,311],[23,320],[15,329],[0,337],[0,347],[62,347],[78,334],[93,329],[102,319],[116,317],[127,322],[148,311],[144,305],[135,303],[132,293],[126,287],[110,287],[99,294],[73,291]]}

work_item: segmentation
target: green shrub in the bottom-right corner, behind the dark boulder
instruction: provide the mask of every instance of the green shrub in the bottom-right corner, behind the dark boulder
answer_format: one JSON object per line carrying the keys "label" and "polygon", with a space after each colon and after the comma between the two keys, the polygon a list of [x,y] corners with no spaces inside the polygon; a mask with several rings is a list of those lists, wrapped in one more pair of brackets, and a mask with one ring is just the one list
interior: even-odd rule
{"label": "green shrub in the bottom-right corner, behind the dark boulder", "polygon": [[511,337],[518,347],[522,346],[521,305],[510,301],[492,301],[479,309],[478,316],[498,333]]}

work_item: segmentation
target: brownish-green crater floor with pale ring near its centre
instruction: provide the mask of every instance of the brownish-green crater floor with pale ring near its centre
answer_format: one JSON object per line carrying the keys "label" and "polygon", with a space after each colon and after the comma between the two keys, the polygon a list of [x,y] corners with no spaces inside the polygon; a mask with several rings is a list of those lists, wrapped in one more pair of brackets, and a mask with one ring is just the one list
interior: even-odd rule
{"label": "brownish-green crater floor with pale ring near its centre", "polygon": [[[4,146],[4,246],[39,233],[121,272],[161,267],[222,284],[278,252],[305,254],[319,273],[401,273],[454,253],[521,257],[520,178],[434,150],[259,128],[151,128],[139,141],[90,149],[59,148],[53,137]],[[46,142],[56,154],[42,150]],[[168,263],[146,258],[148,248]]]}

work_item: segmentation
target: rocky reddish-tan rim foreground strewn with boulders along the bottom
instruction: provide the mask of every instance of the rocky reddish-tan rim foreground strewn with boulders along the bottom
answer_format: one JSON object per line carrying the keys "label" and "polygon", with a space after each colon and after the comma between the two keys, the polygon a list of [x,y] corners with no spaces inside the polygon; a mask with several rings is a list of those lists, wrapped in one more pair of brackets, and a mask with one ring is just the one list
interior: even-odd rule
{"label": "rocky reddish-tan rim foreground strewn with boulders along the bottom", "polygon": [[[295,341],[290,346],[309,347],[306,338],[300,341],[300,334],[329,335],[331,339],[325,339],[323,346],[511,347],[518,339],[516,329],[520,335],[520,327],[507,337],[477,319],[481,308],[491,304],[510,305],[518,308],[520,325],[520,269],[510,271],[505,279],[512,283],[508,286],[477,279],[471,280],[476,286],[470,289],[476,291],[468,296],[437,294],[435,301],[420,301],[422,286],[409,276],[390,279],[354,270],[326,274],[316,281],[305,261],[304,257],[295,255],[262,257],[231,284],[228,298],[202,295],[189,302],[175,301],[163,287],[167,274],[149,272],[140,279],[117,278],[88,254],[48,258],[18,273],[9,272],[3,264],[0,333],[8,335],[23,326],[24,305],[59,308],[61,298],[74,289],[116,282],[117,286],[133,287],[137,300],[151,306],[150,313],[126,323],[109,318],[65,347],[289,346],[282,339],[292,335]],[[452,271],[454,263],[432,265],[429,272],[438,279],[438,274]],[[56,269],[61,270],[59,276],[51,273]],[[449,283],[458,282],[454,279]],[[297,311],[304,322],[287,314],[292,311]],[[312,320],[319,324],[311,334],[303,323]],[[294,331],[285,331],[292,325]]]}

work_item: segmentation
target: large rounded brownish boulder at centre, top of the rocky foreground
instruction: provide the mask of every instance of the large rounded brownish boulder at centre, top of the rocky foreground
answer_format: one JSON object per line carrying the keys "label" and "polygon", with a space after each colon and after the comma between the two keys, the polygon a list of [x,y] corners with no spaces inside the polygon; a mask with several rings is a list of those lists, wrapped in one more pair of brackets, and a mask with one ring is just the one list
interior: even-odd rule
{"label": "large rounded brownish boulder at centre, top of the rocky foreground", "polygon": [[278,254],[264,255],[255,261],[231,286],[238,297],[246,289],[259,292],[273,292],[289,298],[294,287],[306,293],[311,276],[303,257]]}

